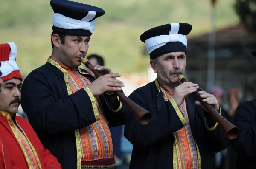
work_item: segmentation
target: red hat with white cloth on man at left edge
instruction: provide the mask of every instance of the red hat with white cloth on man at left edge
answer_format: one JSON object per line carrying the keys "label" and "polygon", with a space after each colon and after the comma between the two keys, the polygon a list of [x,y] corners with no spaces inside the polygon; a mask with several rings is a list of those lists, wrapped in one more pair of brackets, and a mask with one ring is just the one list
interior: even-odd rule
{"label": "red hat with white cloth on man at left edge", "polygon": [[16,54],[17,46],[14,42],[0,44],[0,71],[2,72],[1,79],[3,81],[12,78],[17,78],[21,81],[23,80],[20,73],[20,68],[16,63]]}

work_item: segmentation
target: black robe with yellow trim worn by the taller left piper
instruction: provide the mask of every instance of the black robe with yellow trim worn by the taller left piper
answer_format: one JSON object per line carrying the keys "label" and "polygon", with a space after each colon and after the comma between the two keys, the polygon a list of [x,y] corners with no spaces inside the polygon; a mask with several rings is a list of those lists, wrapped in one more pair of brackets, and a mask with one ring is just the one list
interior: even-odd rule
{"label": "black robe with yellow trim worn by the taller left piper", "polygon": [[[86,70],[79,72],[90,82],[95,80]],[[21,105],[42,144],[58,158],[63,169],[77,169],[74,131],[94,123],[96,117],[88,93],[82,88],[68,95],[65,78],[67,73],[49,62],[33,70],[23,82]],[[121,110],[114,113],[105,96],[99,98],[109,127],[123,125],[130,115],[127,106],[122,103]]]}

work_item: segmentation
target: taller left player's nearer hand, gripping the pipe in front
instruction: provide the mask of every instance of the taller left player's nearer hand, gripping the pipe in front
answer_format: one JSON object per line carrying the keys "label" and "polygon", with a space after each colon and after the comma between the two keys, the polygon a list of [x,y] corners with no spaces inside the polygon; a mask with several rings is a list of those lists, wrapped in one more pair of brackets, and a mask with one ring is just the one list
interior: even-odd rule
{"label": "taller left player's nearer hand, gripping the pipe in front", "polygon": [[122,90],[121,87],[125,86],[122,81],[115,79],[120,76],[121,74],[118,73],[105,74],[94,80],[90,85],[88,85],[88,88],[93,93],[93,96],[99,96],[106,91],[120,91]]}

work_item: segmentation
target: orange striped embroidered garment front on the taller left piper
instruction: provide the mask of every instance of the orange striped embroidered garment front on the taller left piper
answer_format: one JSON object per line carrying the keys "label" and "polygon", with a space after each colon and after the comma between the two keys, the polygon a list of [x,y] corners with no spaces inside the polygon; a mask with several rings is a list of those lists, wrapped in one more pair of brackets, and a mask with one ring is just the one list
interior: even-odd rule
{"label": "orange striped embroidered garment front on the taller left piper", "polygon": [[[78,71],[68,70],[68,80],[72,93],[80,90],[90,81]],[[99,121],[79,129],[81,161],[94,161],[99,159],[113,158],[113,144],[105,113],[99,97],[96,97],[99,112]],[[113,164],[114,165],[114,164]]]}

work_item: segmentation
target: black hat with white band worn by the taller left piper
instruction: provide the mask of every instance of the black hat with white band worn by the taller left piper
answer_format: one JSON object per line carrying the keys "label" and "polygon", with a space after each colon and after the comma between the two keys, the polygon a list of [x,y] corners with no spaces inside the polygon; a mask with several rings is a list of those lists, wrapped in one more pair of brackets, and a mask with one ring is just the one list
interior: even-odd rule
{"label": "black hat with white band worn by the taller left piper", "polygon": [[105,14],[96,6],[68,0],[51,0],[54,11],[52,30],[74,36],[91,36],[95,19]]}

